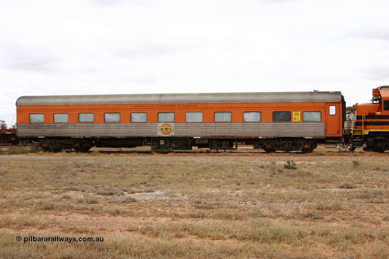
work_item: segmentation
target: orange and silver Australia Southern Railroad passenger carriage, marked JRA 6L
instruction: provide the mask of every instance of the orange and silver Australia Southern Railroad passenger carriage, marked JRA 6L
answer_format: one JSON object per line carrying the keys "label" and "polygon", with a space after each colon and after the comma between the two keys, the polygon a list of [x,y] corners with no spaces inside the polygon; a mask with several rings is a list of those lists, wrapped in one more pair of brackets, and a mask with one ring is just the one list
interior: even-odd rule
{"label": "orange and silver Australia Southern Railroad passenger carriage, marked JRA 6L", "polygon": [[[18,136],[50,147],[57,142],[70,143],[66,148],[82,145],[76,138],[93,138],[83,140],[84,144],[126,147],[174,137],[190,143],[184,149],[208,144],[231,149],[232,142],[234,148],[244,142],[274,151],[312,150],[319,142],[340,142],[344,110],[340,92],[23,96],[17,101],[17,123]],[[81,121],[80,114],[93,114],[93,119]],[[115,119],[107,121],[106,114],[114,114]],[[144,118],[132,121],[133,114]],[[56,115],[66,119],[56,121]],[[132,139],[120,144],[114,138]],[[163,148],[177,143],[173,140],[172,147]]]}

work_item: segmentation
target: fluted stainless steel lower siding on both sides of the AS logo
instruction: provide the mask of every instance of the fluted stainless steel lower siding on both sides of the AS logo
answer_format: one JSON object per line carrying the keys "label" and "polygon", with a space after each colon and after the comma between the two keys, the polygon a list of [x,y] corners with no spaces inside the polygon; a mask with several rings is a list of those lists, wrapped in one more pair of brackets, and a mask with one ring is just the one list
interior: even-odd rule
{"label": "fluted stainless steel lower siding on both sides of the AS logo", "polygon": [[[324,122],[175,123],[175,137],[316,137]],[[142,137],[157,136],[157,123],[18,124],[18,136]]]}

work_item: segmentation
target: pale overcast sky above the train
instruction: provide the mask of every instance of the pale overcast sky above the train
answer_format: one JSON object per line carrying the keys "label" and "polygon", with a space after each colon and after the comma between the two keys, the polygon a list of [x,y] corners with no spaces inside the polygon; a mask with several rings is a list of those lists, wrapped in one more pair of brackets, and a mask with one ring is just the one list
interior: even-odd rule
{"label": "pale overcast sky above the train", "polygon": [[[24,95],[389,85],[387,0],[0,0],[0,119]],[[13,119],[13,122],[15,119]]]}

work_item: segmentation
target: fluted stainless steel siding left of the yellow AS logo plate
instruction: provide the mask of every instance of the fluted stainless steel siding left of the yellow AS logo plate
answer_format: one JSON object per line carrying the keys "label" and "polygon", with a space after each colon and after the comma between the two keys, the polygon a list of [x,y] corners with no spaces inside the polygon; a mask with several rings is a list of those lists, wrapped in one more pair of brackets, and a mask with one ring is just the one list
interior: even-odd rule
{"label": "fluted stainless steel siding left of the yellow AS logo plate", "polygon": [[156,136],[157,123],[18,124],[18,136],[142,137]]}

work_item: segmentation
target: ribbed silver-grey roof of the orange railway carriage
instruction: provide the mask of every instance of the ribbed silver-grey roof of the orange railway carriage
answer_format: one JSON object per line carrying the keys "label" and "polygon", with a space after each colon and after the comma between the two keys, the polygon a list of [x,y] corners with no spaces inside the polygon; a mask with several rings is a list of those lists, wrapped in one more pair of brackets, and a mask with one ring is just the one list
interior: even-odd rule
{"label": "ribbed silver-grey roof of the orange railway carriage", "polygon": [[100,94],[21,96],[16,105],[82,105],[143,103],[279,103],[337,102],[342,93],[334,92],[269,92],[269,93],[166,93],[166,94]]}

